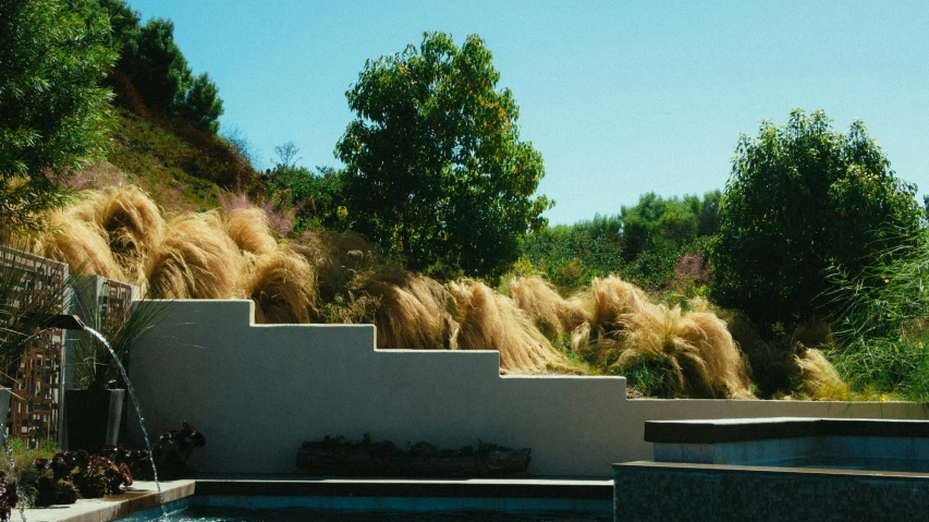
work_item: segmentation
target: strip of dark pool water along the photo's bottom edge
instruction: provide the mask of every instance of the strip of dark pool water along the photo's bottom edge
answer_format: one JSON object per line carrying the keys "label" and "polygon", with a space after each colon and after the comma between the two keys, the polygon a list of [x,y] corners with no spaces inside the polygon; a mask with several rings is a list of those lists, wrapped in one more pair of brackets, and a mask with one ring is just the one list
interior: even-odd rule
{"label": "strip of dark pool water along the photo's bottom edge", "polygon": [[609,522],[611,513],[565,511],[355,511],[322,509],[242,509],[191,506],[170,514],[171,522]]}

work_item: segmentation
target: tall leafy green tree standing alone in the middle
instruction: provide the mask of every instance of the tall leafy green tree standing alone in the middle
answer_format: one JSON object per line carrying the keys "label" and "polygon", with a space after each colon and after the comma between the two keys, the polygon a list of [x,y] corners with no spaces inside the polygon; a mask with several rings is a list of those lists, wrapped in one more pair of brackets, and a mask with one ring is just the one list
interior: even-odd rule
{"label": "tall leafy green tree standing alone in the middle", "polygon": [[550,206],[533,197],[541,155],[477,36],[427,33],[417,49],[365,63],[346,93],[357,113],[337,145],[349,219],[413,268],[500,274]]}

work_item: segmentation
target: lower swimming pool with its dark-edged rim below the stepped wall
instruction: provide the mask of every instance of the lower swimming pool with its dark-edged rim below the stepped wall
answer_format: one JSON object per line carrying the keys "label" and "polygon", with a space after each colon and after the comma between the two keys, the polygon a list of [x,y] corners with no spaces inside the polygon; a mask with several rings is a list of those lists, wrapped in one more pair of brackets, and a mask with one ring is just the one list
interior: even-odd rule
{"label": "lower swimming pool with its dark-edged rim below the stepped wall", "polygon": [[[144,490],[154,485],[142,483]],[[169,488],[172,486],[169,485]],[[150,496],[150,493],[149,493]],[[148,497],[146,497],[148,498]],[[304,476],[203,477],[167,497],[170,522],[608,522],[613,485],[602,478],[405,479]],[[150,498],[149,500],[157,500]],[[134,500],[121,522],[154,522]],[[152,507],[155,503],[147,503]],[[115,513],[114,513],[115,514]],[[98,518],[95,520],[112,520]]]}

